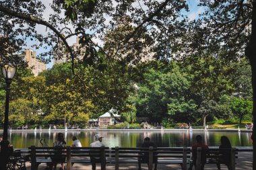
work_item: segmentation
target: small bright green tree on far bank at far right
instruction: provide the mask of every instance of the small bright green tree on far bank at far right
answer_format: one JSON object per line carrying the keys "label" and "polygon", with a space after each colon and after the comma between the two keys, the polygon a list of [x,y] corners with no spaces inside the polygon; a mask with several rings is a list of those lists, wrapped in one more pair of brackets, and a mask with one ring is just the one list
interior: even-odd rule
{"label": "small bright green tree on far bank at far right", "polygon": [[251,114],[253,111],[253,102],[245,100],[243,98],[234,97],[231,100],[230,108],[234,114],[239,118],[239,123],[241,124],[243,118],[247,114]]}

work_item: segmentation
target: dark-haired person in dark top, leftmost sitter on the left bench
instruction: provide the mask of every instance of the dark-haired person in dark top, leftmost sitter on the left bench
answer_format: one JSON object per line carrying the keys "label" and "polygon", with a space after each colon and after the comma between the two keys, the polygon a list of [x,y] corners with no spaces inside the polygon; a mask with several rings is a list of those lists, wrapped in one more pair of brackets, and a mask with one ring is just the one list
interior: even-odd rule
{"label": "dark-haired person in dark top, leftmost sitter on the left bench", "polygon": [[65,155],[63,155],[63,148],[65,148],[66,142],[64,140],[63,133],[59,132],[57,134],[57,140],[53,142],[53,147],[55,147],[55,155],[52,157],[53,165],[57,166],[57,163],[61,163],[61,168],[59,170],[64,170],[65,167]]}

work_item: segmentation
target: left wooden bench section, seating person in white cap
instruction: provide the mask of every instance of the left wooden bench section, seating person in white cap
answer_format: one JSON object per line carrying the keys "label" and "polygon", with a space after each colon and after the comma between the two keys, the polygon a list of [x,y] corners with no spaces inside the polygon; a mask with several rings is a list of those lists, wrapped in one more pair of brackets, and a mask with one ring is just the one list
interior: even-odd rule
{"label": "left wooden bench section, seating person in white cap", "polygon": [[60,156],[65,157],[65,163],[67,163],[67,170],[72,169],[73,163],[91,163],[90,156],[100,157],[100,161],[98,163],[101,164],[101,169],[106,169],[106,163],[109,161],[106,160],[108,155],[108,147],[70,147],[67,146],[63,148],[61,151],[56,151],[54,147],[29,147],[31,154],[31,169],[37,170],[38,165],[40,163],[53,164],[53,157],[56,157],[57,153],[61,152]]}

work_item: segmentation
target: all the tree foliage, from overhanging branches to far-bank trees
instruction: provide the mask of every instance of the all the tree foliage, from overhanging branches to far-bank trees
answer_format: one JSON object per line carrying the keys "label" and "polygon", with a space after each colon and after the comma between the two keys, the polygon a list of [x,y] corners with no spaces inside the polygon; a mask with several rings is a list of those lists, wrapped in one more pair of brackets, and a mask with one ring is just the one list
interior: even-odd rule
{"label": "all the tree foliage, from overhanging branches to far-bank trees", "polygon": [[[1,1],[1,60],[22,63],[13,54],[21,52],[27,38],[36,40],[33,48],[50,49],[42,54],[46,61],[53,54],[69,58],[68,50],[62,48],[65,40],[73,35],[79,36],[80,42],[79,47],[72,49],[74,59],[82,58],[56,65],[37,78],[29,77],[26,71],[20,72],[20,78],[12,84],[15,93],[11,97],[11,112],[16,112],[15,103],[21,99],[31,102],[22,101],[30,112],[43,110],[44,118],[34,119],[45,124],[73,124],[79,122],[78,116],[84,122],[89,116],[96,118],[110,108],[125,113],[129,122],[134,122],[134,112],[150,122],[168,119],[167,125],[170,122],[199,124],[201,119],[205,124],[214,118],[234,121],[239,118],[240,122],[245,117],[248,119],[249,111],[244,110],[251,106],[243,107],[244,110],[233,107],[231,113],[230,101],[222,97],[236,91],[247,101],[252,98],[249,84],[250,77],[255,75],[251,75],[249,62],[243,55],[248,46],[246,54],[256,73],[255,27],[250,26],[251,18],[255,18],[252,16],[255,1],[199,1],[199,6],[207,10],[191,22],[184,15],[189,10],[189,1],[139,3],[147,9],[135,7],[134,1],[120,1],[115,5],[110,0],[53,1],[53,13],[47,25],[43,21],[42,1]],[[62,11],[65,16],[61,15]],[[106,16],[111,21],[106,21]],[[36,24],[56,30],[42,35],[36,32]],[[248,33],[248,28],[253,34]],[[98,46],[94,39],[104,41],[104,47]],[[58,54],[60,49],[64,54]],[[148,56],[156,60],[141,64]],[[179,61],[179,67],[174,60]],[[69,70],[72,66],[76,67],[75,77]],[[139,87],[137,91],[134,84]],[[4,87],[3,79],[0,85]],[[4,95],[5,91],[1,90],[1,108]],[[135,98],[133,102],[128,100],[131,95]],[[133,104],[136,110],[131,110]],[[232,101],[232,105],[236,102]],[[28,113],[22,105],[17,105],[17,110],[22,113],[21,124],[22,116]],[[233,114],[236,118],[232,118]]]}

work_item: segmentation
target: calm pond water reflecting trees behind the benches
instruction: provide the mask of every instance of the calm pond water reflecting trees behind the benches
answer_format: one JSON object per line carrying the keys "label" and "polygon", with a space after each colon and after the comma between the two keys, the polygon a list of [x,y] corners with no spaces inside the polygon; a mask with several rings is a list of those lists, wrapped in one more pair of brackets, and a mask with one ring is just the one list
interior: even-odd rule
{"label": "calm pond water reflecting trees behind the benches", "polygon": [[89,146],[94,142],[94,136],[97,133],[104,136],[102,142],[108,147],[136,147],[140,146],[143,138],[150,137],[152,142],[157,146],[162,147],[180,147],[191,146],[195,142],[195,136],[200,134],[203,137],[203,142],[208,146],[219,146],[220,137],[225,135],[230,139],[232,146],[253,146],[251,140],[251,132],[208,132],[204,130],[197,130],[189,132],[189,130],[172,130],[172,131],[51,131],[51,132],[11,132],[9,133],[8,140],[13,144],[14,148],[28,148],[29,146],[41,146],[40,139],[44,139],[46,144],[53,146],[53,142],[57,137],[58,132],[65,134],[67,146],[72,144],[72,136],[77,136],[81,141],[82,146]]}

